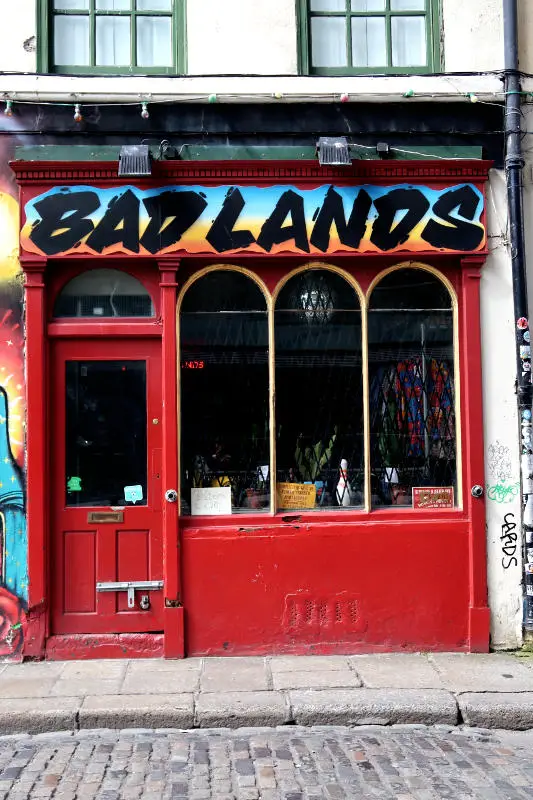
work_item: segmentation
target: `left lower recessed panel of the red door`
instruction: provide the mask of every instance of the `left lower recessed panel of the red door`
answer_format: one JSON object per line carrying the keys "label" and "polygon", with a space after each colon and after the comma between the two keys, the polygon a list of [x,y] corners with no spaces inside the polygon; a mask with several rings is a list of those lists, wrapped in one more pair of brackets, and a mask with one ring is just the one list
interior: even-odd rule
{"label": "left lower recessed panel of the red door", "polygon": [[63,597],[66,614],[96,611],[96,531],[63,534]]}

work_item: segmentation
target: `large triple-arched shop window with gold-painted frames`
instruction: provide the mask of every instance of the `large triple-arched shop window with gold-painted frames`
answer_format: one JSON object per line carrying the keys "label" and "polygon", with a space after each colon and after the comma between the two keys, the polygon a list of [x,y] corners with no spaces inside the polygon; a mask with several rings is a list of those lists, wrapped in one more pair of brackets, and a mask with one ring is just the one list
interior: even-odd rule
{"label": "large triple-arched shop window with gold-painted frames", "polygon": [[320,265],[272,296],[216,269],[185,287],[179,330],[182,514],[454,504],[454,314],[431,272],[364,298]]}

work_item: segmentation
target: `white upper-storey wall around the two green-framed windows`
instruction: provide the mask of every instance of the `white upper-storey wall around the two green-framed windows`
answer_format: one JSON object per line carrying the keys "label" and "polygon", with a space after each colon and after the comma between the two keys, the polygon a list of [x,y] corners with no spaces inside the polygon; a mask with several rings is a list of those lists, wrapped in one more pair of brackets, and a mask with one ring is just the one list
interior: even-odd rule
{"label": "white upper-storey wall around the two green-framed windows", "polygon": [[[519,0],[521,35],[533,35],[533,9]],[[36,34],[36,0],[0,2],[0,72],[34,71],[24,42]],[[449,72],[501,69],[501,0],[442,0],[444,64]],[[187,0],[188,71],[201,74],[297,74],[295,0]],[[531,53],[531,51],[530,51]],[[522,69],[533,72],[533,53]]]}

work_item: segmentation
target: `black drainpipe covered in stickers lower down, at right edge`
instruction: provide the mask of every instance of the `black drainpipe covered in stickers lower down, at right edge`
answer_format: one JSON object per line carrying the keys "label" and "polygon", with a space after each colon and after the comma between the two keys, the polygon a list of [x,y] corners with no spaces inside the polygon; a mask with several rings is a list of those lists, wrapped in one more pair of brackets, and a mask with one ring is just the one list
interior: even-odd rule
{"label": "black drainpipe covered in stickers lower down, at right edge", "polygon": [[[511,240],[511,268],[516,343],[516,390],[521,430],[521,478],[525,500],[523,527],[526,544],[526,564],[533,551],[533,441],[532,441],[532,384],[529,312],[526,284],[526,253],[524,240],[524,211],[522,203],[521,142],[521,84],[518,71],[517,0],[503,0],[503,31],[505,51],[505,173]],[[523,541],[524,539],[522,539]],[[533,558],[532,558],[533,560]],[[533,569],[533,564],[531,564]],[[524,628],[533,633],[533,573],[526,566],[526,598]]]}

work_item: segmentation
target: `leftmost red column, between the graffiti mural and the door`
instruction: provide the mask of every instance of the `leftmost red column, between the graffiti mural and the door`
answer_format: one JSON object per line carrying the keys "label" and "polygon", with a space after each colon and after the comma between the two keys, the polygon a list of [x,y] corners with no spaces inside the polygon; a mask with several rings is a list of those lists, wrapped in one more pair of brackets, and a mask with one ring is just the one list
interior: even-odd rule
{"label": "leftmost red column, between the graffiti mural and the door", "polygon": [[23,259],[26,339],[26,514],[28,526],[28,627],[25,656],[42,656],[48,633],[47,375],[45,259]]}

